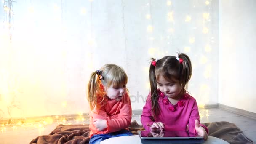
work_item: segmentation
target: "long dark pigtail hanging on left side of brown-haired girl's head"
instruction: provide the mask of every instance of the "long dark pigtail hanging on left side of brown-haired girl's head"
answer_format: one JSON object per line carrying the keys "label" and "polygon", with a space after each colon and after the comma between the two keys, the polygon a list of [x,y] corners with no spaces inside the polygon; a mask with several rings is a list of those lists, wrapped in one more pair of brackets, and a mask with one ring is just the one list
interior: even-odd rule
{"label": "long dark pigtail hanging on left side of brown-haired girl's head", "polygon": [[157,82],[155,77],[155,67],[157,66],[156,59],[152,58],[149,67],[149,82],[150,82],[150,93],[151,93],[151,106],[153,118],[159,114],[159,106],[157,102]]}

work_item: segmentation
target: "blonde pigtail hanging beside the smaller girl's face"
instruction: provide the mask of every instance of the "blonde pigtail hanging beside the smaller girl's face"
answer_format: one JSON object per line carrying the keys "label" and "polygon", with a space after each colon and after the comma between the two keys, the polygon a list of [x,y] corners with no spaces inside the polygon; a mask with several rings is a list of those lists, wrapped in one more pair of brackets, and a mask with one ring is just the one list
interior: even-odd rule
{"label": "blonde pigtail hanging beside the smaller girl's face", "polygon": [[90,105],[91,111],[94,109],[99,109],[100,105],[97,104],[97,92],[100,91],[98,76],[96,76],[96,71],[91,73],[91,77],[88,83],[87,89],[87,100]]}

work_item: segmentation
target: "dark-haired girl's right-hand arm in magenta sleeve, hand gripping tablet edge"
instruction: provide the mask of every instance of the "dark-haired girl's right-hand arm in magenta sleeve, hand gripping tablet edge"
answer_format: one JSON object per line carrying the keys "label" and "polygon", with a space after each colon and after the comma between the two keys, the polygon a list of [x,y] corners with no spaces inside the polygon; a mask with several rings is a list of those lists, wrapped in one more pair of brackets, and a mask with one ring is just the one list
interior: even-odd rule
{"label": "dark-haired girl's right-hand arm in magenta sleeve, hand gripping tablet edge", "polygon": [[195,101],[192,107],[192,111],[191,114],[189,116],[189,131],[190,132],[194,132],[195,134],[197,134],[197,131],[195,130],[195,120],[199,121],[199,125],[201,127],[203,127],[205,129],[205,132],[208,134],[208,128],[205,125],[200,124],[200,116],[199,116],[199,111],[198,111],[198,107],[197,107],[197,102]]}

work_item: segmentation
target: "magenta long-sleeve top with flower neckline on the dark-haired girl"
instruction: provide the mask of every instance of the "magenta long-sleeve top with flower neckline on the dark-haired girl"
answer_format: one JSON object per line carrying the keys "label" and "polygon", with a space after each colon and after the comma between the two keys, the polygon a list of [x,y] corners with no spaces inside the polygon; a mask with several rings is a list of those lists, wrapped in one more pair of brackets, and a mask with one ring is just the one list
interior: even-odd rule
{"label": "magenta long-sleeve top with flower neckline on the dark-haired girl", "polygon": [[[145,130],[150,131],[150,126],[147,126],[147,124],[152,125],[154,122],[162,122],[165,125],[165,131],[189,130],[190,132],[196,133],[195,120],[199,120],[200,124],[196,100],[188,93],[185,93],[177,104],[172,105],[163,93],[159,90],[157,92],[160,112],[153,121],[151,112],[151,95],[149,93],[141,115],[141,123]],[[205,128],[206,133],[208,133],[208,128],[205,125],[200,124],[200,126]]]}

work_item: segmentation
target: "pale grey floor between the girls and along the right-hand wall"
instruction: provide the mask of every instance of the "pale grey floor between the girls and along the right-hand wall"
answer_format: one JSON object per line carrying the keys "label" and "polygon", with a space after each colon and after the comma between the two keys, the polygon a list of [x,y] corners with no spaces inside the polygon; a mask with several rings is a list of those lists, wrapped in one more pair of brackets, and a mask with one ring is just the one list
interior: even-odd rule
{"label": "pale grey floor between the girls and along the right-hand wall", "polygon": [[[200,109],[199,112],[201,123],[217,121],[235,123],[244,132],[245,136],[252,139],[253,143],[256,142],[256,120],[218,108]],[[140,115],[133,115],[133,120],[141,125]]]}

